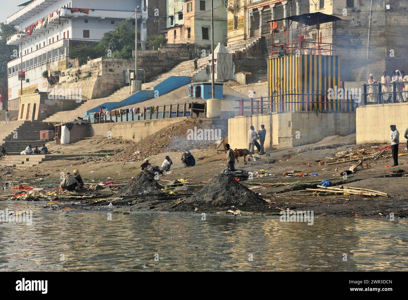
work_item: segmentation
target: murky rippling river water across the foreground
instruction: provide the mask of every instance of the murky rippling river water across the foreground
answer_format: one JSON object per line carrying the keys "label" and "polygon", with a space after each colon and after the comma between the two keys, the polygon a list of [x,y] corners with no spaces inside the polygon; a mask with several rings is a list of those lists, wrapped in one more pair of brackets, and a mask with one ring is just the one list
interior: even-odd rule
{"label": "murky rippling river water across the foreground", "polygon": [[[0,223],[0,271],[400,271],[408,221],[46,211]],[[344,261],[345,254],[347,261]]]}

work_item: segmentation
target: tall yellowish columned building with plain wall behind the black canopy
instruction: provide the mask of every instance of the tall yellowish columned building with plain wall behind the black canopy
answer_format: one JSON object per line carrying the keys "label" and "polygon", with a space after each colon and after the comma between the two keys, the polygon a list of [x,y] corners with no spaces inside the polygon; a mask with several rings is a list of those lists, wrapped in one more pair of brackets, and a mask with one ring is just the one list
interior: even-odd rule
{"label": "tall yellowish columned building with plain wall behind the black canopy", "polygon": [[408,69],[407,9],[406,0],[227,0],[227,44],[261,37],[271,57],[271,44],[294,43],[304,35],[299,23],[283,18],[325,13],[341,21],[310,27],[301,38],[335,45],[332,54],[341,56],[342,80],[367,80],[370,73],[379,78],[382,70]]}

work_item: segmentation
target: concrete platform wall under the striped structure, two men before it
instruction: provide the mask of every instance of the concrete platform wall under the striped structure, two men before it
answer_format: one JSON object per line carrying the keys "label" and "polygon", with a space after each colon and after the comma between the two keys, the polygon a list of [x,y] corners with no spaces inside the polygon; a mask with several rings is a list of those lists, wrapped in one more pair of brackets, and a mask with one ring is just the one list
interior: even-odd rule
{"label": "concrete platform wall under the striped structure, two men before it", "polygon": [[265,125],[265,151],[295,147],[319,142],[327,136],[347,136],[355,132],[354,112],[308,111],[264,113],[237,116],[228,120],[228,141],[233,149],[248,147],[247,132],[251,125],[255,131]]}

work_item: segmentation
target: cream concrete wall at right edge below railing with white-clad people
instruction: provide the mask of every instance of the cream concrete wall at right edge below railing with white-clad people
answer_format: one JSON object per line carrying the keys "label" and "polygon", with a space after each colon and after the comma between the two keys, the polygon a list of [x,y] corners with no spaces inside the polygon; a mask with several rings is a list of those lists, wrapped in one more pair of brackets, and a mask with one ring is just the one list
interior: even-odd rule
{"label": "cream concrete wall at right edge below railing with white-clad people", "polygon": [[[390,125],[397,125],[399,142],[405,143],[408,127],[406,103],[373,104],[356,109],[356,140],[362,143],[390,143]],[[405,147],[405,146],[404,146]]]}

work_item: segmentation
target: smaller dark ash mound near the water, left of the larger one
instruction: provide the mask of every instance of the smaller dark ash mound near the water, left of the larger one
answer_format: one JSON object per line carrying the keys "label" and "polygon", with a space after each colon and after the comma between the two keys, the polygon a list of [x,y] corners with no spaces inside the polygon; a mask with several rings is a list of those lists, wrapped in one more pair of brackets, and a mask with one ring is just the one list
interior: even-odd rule
{"label": "smaller dark ash mound near the water, left of the larger one", "polygon": [[153,175],[141,172],[117,193],[117,197],[162,193],[161,189],[162,187],[154,180]]}

